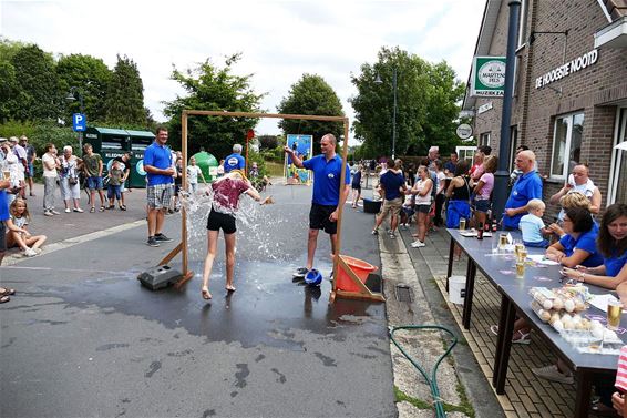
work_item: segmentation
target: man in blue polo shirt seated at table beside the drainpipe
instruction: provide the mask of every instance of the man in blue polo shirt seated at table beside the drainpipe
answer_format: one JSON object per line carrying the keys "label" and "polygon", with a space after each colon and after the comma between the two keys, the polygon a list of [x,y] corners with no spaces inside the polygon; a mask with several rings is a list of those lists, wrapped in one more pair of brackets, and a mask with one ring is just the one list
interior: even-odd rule
{"label": "man in blue polo shirt seated at table beside the drainpipe", "polygon": [[518,228],[521,217],[528,212],[527,203],[532,198],[542,200],[542,179],[534,170],[535,154],[533,151],[521,151],[516,155],[516,169],[522,174],[514,183],[503,214],[503,227],[507,231]]}

